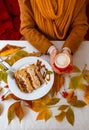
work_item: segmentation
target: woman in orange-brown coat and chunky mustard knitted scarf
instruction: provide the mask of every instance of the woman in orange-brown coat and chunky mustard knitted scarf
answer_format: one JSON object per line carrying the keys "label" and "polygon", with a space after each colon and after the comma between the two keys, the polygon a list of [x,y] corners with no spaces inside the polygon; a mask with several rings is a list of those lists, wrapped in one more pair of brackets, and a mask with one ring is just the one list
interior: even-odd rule
{"label": "woman in orange-brown coat and chunky mustard knitted scarf", "polygon": [[[41,53],[50,54],[54,66],[58,53],[71,54],[78,49],[88,29],[85,0],[18,0],[21,34]],[[50,40],[65,40],[58,52]],[[65,73],[65,72],[64,72]]]}

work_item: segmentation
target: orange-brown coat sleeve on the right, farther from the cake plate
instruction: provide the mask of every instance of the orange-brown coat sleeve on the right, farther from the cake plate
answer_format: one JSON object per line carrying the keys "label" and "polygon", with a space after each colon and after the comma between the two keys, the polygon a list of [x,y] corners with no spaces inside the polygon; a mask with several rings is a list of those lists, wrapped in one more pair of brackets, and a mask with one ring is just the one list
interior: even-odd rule
{"label": "orange-brown coat sleeve on the right, farther from the cake plate", "polygon": [[[75,11],[78,10],[78,6]],[[71,52],[74,53],[81,42],[84,40],[84,36],[88,30],[88,23],[86,17],[86,6],[83,4],[81,10],[78,10],[77,14],[74,16],[73,24],[71,26],[71,31],[64,42],[63,47],[69,47]]]}

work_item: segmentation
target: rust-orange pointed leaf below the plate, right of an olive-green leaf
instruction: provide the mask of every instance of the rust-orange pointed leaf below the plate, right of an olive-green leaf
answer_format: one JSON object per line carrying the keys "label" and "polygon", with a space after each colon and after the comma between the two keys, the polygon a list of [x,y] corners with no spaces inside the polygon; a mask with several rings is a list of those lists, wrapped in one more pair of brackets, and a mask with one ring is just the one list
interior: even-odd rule
{"label": "rust-orange pointed leaf below the plate, right of an olive-green leaf", "polygon": [[17,104],[15,106],[15,114],[17,115],[17,117],[21,121],[23,116],[24,116],[23,109],[21,107],[21,102],[17,102]]}

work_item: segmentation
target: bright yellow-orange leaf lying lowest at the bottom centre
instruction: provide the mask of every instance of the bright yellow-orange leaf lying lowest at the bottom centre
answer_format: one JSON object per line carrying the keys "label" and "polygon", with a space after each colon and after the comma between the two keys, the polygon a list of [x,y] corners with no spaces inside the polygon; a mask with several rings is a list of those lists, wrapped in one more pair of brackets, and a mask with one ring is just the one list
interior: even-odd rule
{"label": "bright yellow-orange leaf lying lowest at the bottom centre", "polygon": [[50,109],[45,108],[38,113],[36,120],[47,121],[51,116],[52,116],[52,113],[51,113]]}

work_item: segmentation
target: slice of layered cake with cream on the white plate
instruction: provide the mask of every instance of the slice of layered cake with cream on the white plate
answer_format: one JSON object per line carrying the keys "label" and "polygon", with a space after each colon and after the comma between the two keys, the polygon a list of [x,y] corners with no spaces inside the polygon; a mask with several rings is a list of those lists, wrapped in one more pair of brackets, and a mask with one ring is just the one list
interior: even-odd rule
{"label": "slice of layered cake with cream on the white plate", "polygon": [[14,77],[20,90],[25,93],[32,92],[44,83],[42,74],[35,64],[17,70]]}

